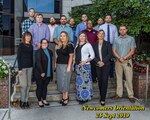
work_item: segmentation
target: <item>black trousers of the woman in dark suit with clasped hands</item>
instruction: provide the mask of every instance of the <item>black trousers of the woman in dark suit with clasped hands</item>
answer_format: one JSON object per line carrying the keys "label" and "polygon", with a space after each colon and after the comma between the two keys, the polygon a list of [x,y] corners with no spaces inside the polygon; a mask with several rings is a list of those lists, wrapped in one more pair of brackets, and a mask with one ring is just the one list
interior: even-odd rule
{"label": "black trousers of the woman in dark suit with clasped hands", "polygon": [[106,99],[109,71],[110,71],[109,64],[103,67],[96,66],[98,85],[101,97],[100,101],[105,101]]}

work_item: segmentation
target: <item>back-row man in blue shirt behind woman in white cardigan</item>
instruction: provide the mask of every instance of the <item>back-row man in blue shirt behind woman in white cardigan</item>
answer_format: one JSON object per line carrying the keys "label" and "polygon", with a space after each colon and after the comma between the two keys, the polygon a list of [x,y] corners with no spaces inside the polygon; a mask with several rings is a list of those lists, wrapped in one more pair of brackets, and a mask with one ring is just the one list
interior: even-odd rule
{"label": "back-row man in blue shirt behind woman in white cardigan", "polygon": [[82,15],[82,22],[79,23],[76,27],[76,33],[75,33],[75,36],[78,38],[79,36],[79,33],[83,30],[85,30],[87,28],[87,20],[88,20],[88,17],[86,14],[83,14]]}

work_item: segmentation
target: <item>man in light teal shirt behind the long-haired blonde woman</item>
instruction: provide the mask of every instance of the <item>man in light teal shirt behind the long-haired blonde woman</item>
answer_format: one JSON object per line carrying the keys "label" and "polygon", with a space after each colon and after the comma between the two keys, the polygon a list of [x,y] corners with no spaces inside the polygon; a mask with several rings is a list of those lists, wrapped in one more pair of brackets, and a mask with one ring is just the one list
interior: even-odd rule
{"label": "man in light teal shirt behind the long-haired blonde woman", "polygon": [[66,23],[67,23],[67,17],[65,15],[62,15],[60,17],[60,25],[55,28],[53,34],[53,40],[56,44],[58,44],[60,33],[62,31],[67,32],[69,40],[73,42],[73,31]]}

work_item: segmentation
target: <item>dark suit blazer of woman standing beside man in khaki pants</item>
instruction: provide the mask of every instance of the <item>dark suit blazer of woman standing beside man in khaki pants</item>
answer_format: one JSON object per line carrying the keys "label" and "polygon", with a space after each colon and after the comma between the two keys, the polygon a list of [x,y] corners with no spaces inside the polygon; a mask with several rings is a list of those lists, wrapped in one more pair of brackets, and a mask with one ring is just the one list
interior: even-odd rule
{"label": "dark suit blazer of woman standing beside man in khaki pants", "polygon": [[[100,61],[98,42],[93,45],[93,50],[95,52],[94,61],[97,64]],[[110,42],[104,40],[101,52],[102,52],[102,62],[104,62],[105,65],[110,64],[110,59],[112,57],[112,46]]]}

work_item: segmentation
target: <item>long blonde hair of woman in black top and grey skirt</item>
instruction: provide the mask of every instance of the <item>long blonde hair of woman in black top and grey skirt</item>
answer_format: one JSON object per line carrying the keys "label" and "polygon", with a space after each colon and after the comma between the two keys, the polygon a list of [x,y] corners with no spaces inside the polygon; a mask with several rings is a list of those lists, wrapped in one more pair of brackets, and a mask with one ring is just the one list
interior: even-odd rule
{"label": "long blonde hair of woman in black top and grey skirt", "polygon": [[62,33],[64,33],[66,35],[66,39],[67,39],[66,44],[63,46],[62,40],[61,40],[61,38],[59,38],[58,45],[57,45],[56,49],[60,49],[62,46],[63,46],[63,48],[65,48],[67,45],[72,44],[71,41],[69,40],[68,33],[66,31],[62,31],[60,33],[60,35]]}

